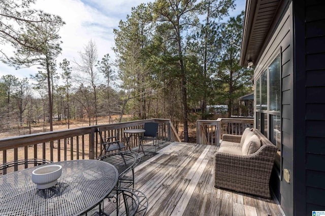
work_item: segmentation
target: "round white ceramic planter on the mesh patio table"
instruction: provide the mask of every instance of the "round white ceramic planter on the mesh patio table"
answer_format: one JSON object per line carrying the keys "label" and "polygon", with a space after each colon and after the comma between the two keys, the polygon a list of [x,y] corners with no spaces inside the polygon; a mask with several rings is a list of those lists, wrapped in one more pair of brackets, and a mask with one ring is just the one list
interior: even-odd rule
{"label": "round white ceramic planter on the mesh patio table", "polygon": [[46,189],[54,186],[61,174],[61,165],[46,165],[32,171],[31,181],[38,189]]}

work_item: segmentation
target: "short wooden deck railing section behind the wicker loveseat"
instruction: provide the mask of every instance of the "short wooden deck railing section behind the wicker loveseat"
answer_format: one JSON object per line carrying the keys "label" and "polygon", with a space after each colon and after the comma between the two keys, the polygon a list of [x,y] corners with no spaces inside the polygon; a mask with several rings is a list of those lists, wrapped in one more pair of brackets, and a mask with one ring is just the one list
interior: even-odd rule
{"label": "short wooden deck railing section behind the wicker loveseat", "polygon": [[246,127],[252,128],[254,119],[218,118],[197,120],[197,143],[218,145],[223,134],[241,135]]}

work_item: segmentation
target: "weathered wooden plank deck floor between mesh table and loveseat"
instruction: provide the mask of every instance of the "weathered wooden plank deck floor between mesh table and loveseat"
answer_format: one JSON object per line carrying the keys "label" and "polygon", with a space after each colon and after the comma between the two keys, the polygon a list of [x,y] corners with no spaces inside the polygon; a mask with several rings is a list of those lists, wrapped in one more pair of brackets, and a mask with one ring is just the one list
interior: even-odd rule
{"label": "weathered wooden plank deck floor between mesh table and loveseat", "polygon": [[217,147],[174,142],[136,167],[135,189],[148,198],[146,215],[284,215],[274,200],[214,187]]}

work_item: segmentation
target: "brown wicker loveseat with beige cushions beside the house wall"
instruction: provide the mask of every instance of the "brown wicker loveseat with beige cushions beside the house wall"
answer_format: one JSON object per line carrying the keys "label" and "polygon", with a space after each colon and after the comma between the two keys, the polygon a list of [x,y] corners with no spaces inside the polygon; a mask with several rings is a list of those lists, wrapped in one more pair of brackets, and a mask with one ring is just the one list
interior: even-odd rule
{"label": "brown wicker loveseat with beige cushions beside the house wall", "polygon": [[[215,187],[270,199],[269,181],[277,148],[257,129],[246,129],[244,135],[243,140],[238,135],[222,136],[215,154]],[[255,141],[258,138],[261,144],[258,146],[257,142],[257,150],[250,146],[247,153],[248,137]],[[242,145],[244,141],[246,150]]]}

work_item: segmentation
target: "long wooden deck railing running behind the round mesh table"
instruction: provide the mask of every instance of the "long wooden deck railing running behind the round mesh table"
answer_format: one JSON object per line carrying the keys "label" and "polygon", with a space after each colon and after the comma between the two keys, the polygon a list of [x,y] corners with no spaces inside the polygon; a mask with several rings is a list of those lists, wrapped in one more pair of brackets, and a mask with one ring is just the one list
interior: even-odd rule
{"label": "long wooden deck railing running behind the round mesh table", "polygon": [[[62,131],[45,132],[0,139],[0,163],[7,161],[43,158],[51,161],[94,159],[101,153],[99,128],[103,137],[117,136],[124,141],[123,130],[143,128],[145,122],[159,123],[160,141],[178,141],[180,138],[170,119],[147,119],[113,124],[93,125]],[[130,140],[131,148],[139,145],[138,139]]]}

